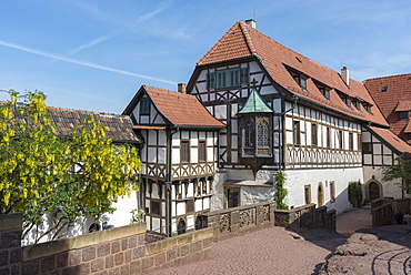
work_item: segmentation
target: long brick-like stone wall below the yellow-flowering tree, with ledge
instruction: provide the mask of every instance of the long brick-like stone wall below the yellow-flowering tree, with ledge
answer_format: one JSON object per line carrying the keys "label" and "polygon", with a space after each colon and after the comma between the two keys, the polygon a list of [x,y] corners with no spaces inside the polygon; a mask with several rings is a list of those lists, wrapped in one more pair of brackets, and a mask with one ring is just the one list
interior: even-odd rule
{"label": "long brick-like stone wall below the yellow-flowering tree, with ledge", "polygon": [[0,218],[14,225],[0,223],[0,275],[141,274],[207,258],[212,240],[204,228],[146,244],[141,223],[21,248],[21,215]]}

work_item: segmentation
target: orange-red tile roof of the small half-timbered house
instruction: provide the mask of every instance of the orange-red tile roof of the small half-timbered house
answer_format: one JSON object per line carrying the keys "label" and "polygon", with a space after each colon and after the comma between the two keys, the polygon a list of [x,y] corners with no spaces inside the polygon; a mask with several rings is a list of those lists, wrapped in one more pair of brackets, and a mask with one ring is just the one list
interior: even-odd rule
{"label": "orange-red tile roof of the small half-timbered house", "polygon": [[224,128],[194,95],[143,85],[157,110],[174,126]]}

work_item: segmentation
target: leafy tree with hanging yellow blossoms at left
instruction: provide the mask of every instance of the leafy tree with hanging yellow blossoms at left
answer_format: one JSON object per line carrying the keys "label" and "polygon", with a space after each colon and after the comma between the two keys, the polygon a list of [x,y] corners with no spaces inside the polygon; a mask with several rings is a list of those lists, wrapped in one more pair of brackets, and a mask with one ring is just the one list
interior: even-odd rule
{"label": "leafy tree with hanging yellow blossoms at left", "polygon": [[0,105],[0,214],[23,212],[23,236],[50,214],[53,225],[36,242],[57,238],[76,218],[112,213],[119,196],[138,190],[136,147],[112,144],[96,118],[61,136],[44,94],[26,94],[24,105],[10,96]]}

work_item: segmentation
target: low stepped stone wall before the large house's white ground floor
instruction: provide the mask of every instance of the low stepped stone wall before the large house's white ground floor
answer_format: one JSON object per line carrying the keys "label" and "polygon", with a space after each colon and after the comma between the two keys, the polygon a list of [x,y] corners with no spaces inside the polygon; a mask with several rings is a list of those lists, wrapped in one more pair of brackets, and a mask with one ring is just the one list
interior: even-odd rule
{"label": "low stepped stone wall before the large house's white ground floor", "polygon": [[314,203],[292,210],[275,210],[275,225],[290,230],[335,230],[335,210],[327,211],[327,206],[315,208]]}

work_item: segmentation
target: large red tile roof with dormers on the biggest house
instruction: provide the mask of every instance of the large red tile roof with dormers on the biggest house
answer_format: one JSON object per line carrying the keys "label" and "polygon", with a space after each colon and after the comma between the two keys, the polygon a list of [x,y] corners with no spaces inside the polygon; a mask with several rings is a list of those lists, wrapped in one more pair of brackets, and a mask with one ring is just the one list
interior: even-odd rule
{"label": "large red tile roof with dormers on the biggest house", "polygon": [[[298,96],[348,115],[388,126],[387,121],[362,83],[350,79],[350,86],[348,88],[340,73],[290,50],[243,21],[235,22],[197,64],[206,65],[249,57],[258,57],[272,79]],[[308,92],[304,92],[294,81],[288,68],[309,77],[307,83]],[[330,101],[321,94],[312,81],[313,79],[331,88]],[[372,114],[368,113],[362,105],[360,106],[361,111],[358,111],[355,108],[348,108],[335,90],[351,98],[369,102],[372,105]]]}

